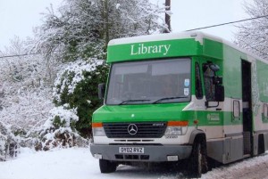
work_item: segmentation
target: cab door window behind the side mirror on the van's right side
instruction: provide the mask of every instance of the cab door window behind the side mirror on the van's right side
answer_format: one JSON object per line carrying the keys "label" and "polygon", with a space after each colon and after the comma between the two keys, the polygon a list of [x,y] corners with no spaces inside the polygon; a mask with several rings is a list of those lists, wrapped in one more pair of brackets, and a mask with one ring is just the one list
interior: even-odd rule
{"label": "cab door window behind the side mirror on the van's right side", "polygon": [[203,64],[205,98],[207,102],[215,101],[215,85],[213,83],[214,71],[205,63]]}

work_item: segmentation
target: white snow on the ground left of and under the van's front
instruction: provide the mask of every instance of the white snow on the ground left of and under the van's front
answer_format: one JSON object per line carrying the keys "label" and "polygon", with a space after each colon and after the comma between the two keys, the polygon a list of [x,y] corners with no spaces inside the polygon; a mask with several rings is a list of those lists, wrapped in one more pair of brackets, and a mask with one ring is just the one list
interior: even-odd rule
{"label": "white snow on the ground left of and under the van's front", "polygon": [[17,159],[0,162],[0,179],[105,179],[177,178],[177,174],[148,172],[139,167],[119,166],[113,174],[101,174],[98,160],[89,149],[54,151],[22,149]]}

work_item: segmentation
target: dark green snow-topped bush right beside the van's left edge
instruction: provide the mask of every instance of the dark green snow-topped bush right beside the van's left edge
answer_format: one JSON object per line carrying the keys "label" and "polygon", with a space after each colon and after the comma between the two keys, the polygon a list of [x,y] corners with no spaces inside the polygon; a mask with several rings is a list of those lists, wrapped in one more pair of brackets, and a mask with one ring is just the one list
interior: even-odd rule
{"label": "dark green snow-topped bush right beside the van's left edge", "polygon": [[75,128],[84,137],[91,134],[93,111],[102,105],[97,97],[97,85],[106,81],[108,67],[103,62],[95,59],[70,62],[54,83],[54,103],[77,109],[79,120]]}

